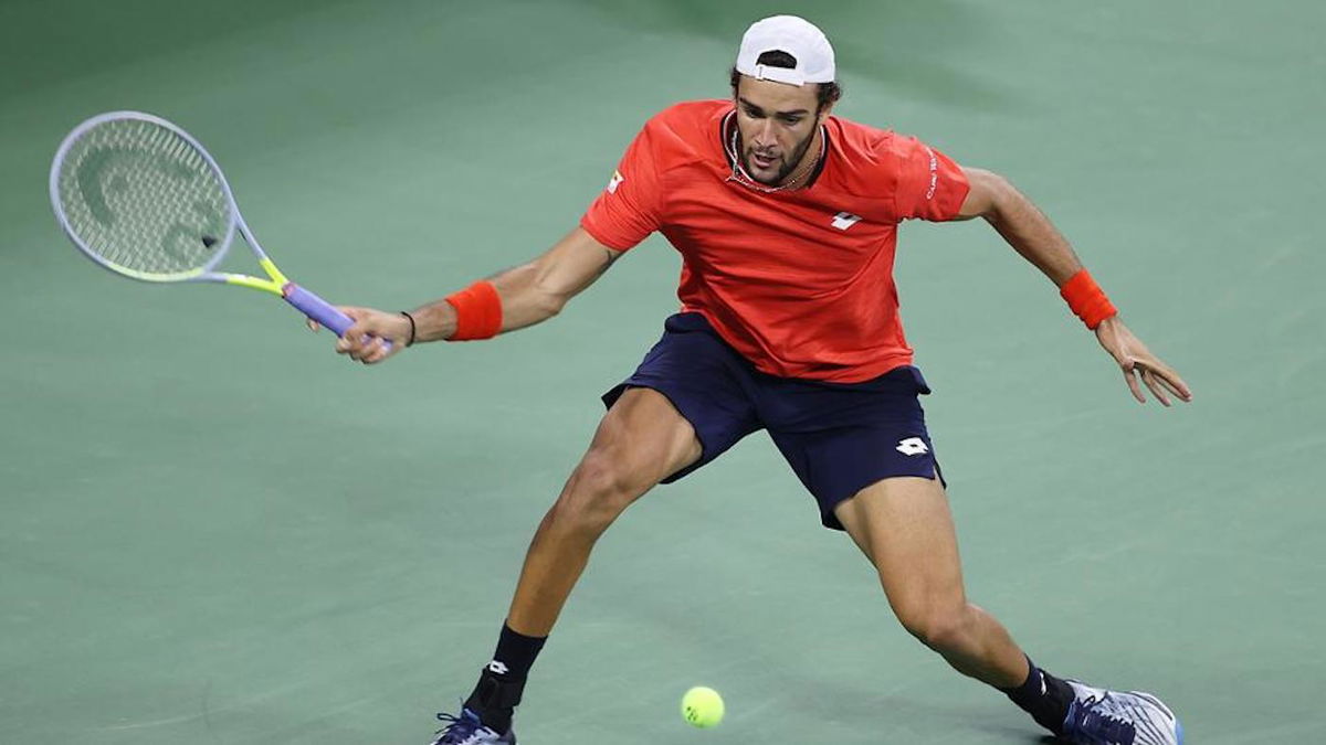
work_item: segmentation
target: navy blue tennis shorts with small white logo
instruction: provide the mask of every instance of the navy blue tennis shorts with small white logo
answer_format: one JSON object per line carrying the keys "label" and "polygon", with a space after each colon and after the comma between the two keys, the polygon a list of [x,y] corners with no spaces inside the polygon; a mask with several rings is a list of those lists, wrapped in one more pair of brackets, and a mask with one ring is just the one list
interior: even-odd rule
{"label": "navy blue tennis shorts with small white logo", "polygon": [[695,427],[700,459],[670,484],[766,430],[819,502],[819,520],[842,530],[838,502],[891,476],[943,480],[918,396],[920,370],[904,366],[862,383],[780,378],[754,369],[699,313],[672,315],[635,374],[603,394],[609,408],[627,388],[659,391]]}

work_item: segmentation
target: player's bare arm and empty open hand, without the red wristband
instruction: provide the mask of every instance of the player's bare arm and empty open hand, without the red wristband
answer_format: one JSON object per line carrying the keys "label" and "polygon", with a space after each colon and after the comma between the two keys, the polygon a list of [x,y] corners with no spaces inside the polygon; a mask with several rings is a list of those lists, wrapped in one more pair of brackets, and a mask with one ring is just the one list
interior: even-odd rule
{"label": "player's bare arm and empty open hand, without the red wristband", "polygon": [[[963,174],[971,190],[959,211],[959,220],[984,217],[1022,258],[1036,265],[1057,288],[1063,288],[1082,270],[1082,261],[1069,241],[1013,184],[998,174],[981,168],[964,167]],[[1095,338],[1119,365],[1128,390],[1138,402],[1146,403],[1139,378],[1164,406],[1170,406],[1170,394],[1179,400],[1192,400],[1192,391],[1183,378],[1152,354],[1123,325],[1118,314],[1101,321],[1095,327]]]}

